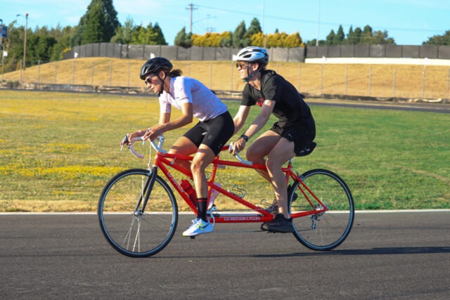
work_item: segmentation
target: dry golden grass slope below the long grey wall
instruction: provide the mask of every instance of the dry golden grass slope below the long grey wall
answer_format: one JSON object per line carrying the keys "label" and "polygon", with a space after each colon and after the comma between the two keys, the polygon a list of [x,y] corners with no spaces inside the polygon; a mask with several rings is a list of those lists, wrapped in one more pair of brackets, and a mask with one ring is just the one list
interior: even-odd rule
{"label": "dry golden grass slope below the long grey wall", "polygon": [[[25,84],[80,84],[145,89],[139,79],[144,60],[77,58],[4,74],[6,81]],[[174,61],[186,76],[210,89],[242,91],[231,61]],[[450,68],[423,65],[341,65],[269,63],[302,93],[397,98],[449,98]],[[425,73],[425,77],[424,77]]]}

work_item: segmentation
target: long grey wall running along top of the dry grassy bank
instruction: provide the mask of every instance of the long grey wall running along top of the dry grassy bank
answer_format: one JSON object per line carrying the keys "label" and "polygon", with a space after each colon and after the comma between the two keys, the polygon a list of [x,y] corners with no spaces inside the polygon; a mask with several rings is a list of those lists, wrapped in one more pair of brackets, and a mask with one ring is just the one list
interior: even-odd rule
{"label": "long grey wall running along top of the dry grassy bank", "polygon": [[[64,59],[75,57],[113,57],[147,60],[164,56],[169,60],[231,60],[238,48],[126,45],[96,43],[75,46]],[[271,61],[304,62],[309,58],[430,58],[450,59],[450,46],[338,45],[307,48],[269,48]]]}

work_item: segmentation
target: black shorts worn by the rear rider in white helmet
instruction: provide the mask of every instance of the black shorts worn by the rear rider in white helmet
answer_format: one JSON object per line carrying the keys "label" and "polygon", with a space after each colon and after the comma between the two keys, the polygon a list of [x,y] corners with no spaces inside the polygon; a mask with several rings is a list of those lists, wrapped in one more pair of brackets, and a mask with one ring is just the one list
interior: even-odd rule
{"label": "black shorts worn by the rear rider in white helmet", "polygon": [[278,125],[278,122],[272,126],[271,131],[278,133],[288,141],[294,142],[295,156],[309,155],[314,148],[314,138],[316,138],[316,126],[304,126],[304,124],[295,124],[285,128]]}

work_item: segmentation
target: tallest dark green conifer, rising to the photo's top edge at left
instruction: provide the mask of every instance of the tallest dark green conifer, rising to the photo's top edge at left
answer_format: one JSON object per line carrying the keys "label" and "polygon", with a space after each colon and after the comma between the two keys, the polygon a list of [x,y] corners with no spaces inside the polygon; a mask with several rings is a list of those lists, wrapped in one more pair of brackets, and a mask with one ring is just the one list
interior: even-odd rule
{"label": "tallest dark green conifer, rising to the photo's top edge at left", "polygon": [[110,41],[119,26],[113,0],[91,0],[86,13],[79,19],[71,44]]}

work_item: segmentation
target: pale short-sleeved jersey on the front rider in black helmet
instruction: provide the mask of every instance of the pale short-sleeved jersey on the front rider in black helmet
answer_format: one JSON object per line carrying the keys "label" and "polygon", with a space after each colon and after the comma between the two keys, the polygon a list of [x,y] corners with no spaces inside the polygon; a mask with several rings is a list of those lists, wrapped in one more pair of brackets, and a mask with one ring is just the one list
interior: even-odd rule
{"label": "pale short-sleeved jersey on the front rider in black helmet", "polygon": [[191,77],[178,76],[170,79],[170,92],[160,95],[160,110],[172,112],[172,105],[181,110],[182,103],[192,103],[193,116],[207,121],[223,114],[228,109],[205,84]]}

